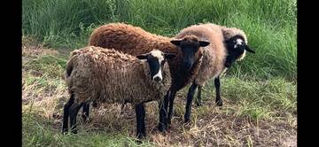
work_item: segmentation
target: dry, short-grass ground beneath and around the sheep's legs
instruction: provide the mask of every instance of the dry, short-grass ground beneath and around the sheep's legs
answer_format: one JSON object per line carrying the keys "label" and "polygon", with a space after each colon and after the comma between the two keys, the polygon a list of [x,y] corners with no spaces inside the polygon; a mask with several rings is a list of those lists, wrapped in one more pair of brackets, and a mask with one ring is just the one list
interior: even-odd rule
{"label": "dry, short-grass ground beneath and around the sheep's legs", "polygon": [[[64,69],[71,49],[47,49],[33,39],[22,44],[23,146],[135,146],[136,117],[130,104],[104,104],[90,110],[89,123],[78,117],[78,135],[61,135],[68,93]],[[296,84],[284,79],[242,81],[222,78],[222,107],[214,104],[212,82],[203,89],[203,106],[183,123],[185,95],[175,98],[175,116],[159,133],[158,106],[146,104],[142,146],[297,146]],[[81,113],[80,111],[79,113]]]}

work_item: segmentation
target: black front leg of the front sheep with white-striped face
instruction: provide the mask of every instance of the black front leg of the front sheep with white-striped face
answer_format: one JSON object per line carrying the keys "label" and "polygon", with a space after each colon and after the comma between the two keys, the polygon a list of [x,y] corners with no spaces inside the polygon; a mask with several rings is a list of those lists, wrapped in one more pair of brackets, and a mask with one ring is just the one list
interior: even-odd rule
{"label": "black front leg of the front sheep with white-striped face", "polygon": [[136,136],[138,139],[142,139],[146,136],[145,133],[145,109],[144,104],[136,104]]}

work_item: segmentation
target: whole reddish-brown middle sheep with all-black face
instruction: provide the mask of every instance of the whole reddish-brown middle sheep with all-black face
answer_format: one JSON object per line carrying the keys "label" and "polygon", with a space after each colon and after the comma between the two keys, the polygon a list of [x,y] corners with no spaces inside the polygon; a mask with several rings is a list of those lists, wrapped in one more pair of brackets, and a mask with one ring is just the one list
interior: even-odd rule
{"label": "whole reddish-brown middle sheep with all-black face", "polygon": [[168,103],[171,103],[176,92],[189,84],[198,73],[203,51],[199,50],[199,47],[205,47],[208,44],[198,40],[198,37],[194,35],[170,39],[124,23],[111,23],[97,27],[89,38],[89,45],[113,48],[133,56],[149,52],[153,48],[177,55],[176,58],[168,61],[172,85],[164,97],[164,103],[159,103],[159,131],[164,131],[167,123],[170,123],[167,122]]}

